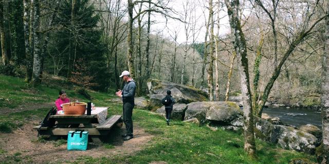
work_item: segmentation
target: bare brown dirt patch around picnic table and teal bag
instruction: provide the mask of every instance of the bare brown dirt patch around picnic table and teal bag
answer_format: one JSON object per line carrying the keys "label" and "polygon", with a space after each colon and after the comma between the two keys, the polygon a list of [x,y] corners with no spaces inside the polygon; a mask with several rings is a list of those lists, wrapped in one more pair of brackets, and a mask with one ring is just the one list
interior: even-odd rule
{"label": "bare brown dirt patch around picnic table and teal bag", "polygon": [[87,151],[67,151],[66,144],[59,147],[53,145],[53,141],[39,142],[37,133],[32,129],[37,122],[24,125],[20,130],[13,133],[0,133],[0,147],[7,153],[0,156],[0,161],[6,156],[13,156],[15,153],[22,153],[23,162],[30,163],[60,163],[74,161],[81,156],[111,157],[114,155],[131,155],[141,150],[148,143],[153,135],[145,133],[143,129],[134,126],[134,138],[123,141],[121,134],[125,132],[124,126],[114,131],[108,137],[108,143],[114,145],[114,149],[106,149],[101,145],[88,144]]}

